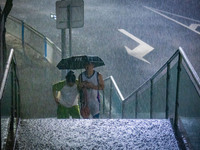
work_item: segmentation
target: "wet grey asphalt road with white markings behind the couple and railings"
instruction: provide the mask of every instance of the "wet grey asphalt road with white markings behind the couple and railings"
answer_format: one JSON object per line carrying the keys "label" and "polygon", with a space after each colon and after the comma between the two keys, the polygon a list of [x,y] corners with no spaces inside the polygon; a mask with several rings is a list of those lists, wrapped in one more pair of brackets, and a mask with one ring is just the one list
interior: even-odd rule
{"label": "wet grey asphalt road with white markings behind the couple and railings", "polygon": [[[14,0],[10,15],[61,47],[61,31],[50,18],[55,2]],[[106,65],[98,70],[104,78],[115,78],[124,97],[150,78],[179,46],[200,76],[199,10],[199,0],[85,0],[84,27],[72,30],[72,55],[100,56]],[[138,54],[143,59],[126,51],[137,46],[146,49]]]}

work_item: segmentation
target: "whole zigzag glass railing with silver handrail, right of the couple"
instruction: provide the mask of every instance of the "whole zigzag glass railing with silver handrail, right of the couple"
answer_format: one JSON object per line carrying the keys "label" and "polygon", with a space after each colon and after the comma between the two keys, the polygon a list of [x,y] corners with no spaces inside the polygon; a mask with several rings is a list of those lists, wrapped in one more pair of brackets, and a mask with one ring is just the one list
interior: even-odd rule
{"label": "whole zigzag glass railing with silver handrail, right of the couple", "polygon": [[193,126],[200,126],[200,79],[181,47],[126,98],[112,76],[105,79],[101,95],[102,118],[172,118],[174,127],[184,128],[193,147],[199,142],[198,128]]}

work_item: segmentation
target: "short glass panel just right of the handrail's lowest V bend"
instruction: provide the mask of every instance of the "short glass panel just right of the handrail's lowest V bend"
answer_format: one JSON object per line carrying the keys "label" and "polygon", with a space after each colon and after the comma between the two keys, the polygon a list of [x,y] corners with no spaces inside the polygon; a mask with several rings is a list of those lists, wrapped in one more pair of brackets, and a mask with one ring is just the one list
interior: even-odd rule
{"label": "short glass panel just right of the handrail's lowest V bend", "polygon": [[136,94],[132,94],[124,101],[123,118],[136,118]]}

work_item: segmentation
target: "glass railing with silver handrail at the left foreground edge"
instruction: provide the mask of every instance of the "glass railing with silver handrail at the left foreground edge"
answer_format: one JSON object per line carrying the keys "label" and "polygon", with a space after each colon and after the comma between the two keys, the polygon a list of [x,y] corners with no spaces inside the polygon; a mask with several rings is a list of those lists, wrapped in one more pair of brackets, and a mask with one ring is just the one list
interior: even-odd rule
{"label": "glass railing with silver handrail at the left foreground edge", "polygon": [[6,146],[7,148],[8,146],[13,146],[20,118],[20,89],[13,53],[14,50],[11,49],[0,89],[1,149],[4,149]]}

